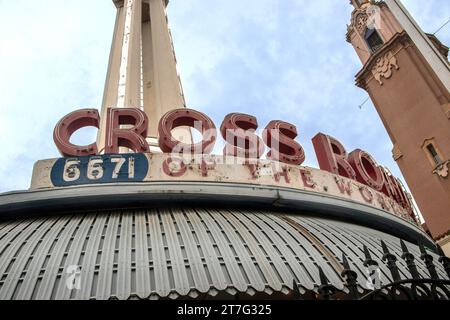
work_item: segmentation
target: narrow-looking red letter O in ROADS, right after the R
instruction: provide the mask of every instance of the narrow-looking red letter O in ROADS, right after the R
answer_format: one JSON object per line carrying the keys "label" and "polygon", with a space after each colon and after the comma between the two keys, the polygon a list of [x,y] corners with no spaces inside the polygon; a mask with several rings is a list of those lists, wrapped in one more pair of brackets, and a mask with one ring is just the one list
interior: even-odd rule
{"label": "narrow-looking red letter O in ROADS, right after the R", "polygon": [[378,164],[370,154],[357,149],[348,156],[348,163],[355,170],[358,182],[378,191],[383,188],[383,175]]}

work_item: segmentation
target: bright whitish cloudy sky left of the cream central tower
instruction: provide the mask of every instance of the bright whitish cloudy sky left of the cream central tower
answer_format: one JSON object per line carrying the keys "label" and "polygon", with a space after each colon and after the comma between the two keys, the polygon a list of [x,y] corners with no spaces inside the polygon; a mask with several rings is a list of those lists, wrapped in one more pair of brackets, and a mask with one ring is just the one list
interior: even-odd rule
{"label": "bright whitish cloudy sky left of the cream central tower", "polygon": [[27,188],[33,163],[58,156],[60,117],[101,103],[114,10],[82,2],[0,3],[0,191]]}

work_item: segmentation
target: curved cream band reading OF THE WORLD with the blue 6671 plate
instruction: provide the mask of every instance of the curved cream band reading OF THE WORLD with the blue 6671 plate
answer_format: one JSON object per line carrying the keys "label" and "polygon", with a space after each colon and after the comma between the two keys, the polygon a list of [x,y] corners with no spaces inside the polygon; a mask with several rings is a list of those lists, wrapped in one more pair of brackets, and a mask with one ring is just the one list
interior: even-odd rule
{"label": "curved cream band reading OF THE WORLD with the blue 6671 plate", "polygon": [[290,188],[370,205],[412,221],[408,210],[397,201],[355,180],[270,160],[259,160],[249,166],[225,156],[200,155],[184,159],[146,153],[44,160],[35,166],[32,188],[149,182],[215,182]]}

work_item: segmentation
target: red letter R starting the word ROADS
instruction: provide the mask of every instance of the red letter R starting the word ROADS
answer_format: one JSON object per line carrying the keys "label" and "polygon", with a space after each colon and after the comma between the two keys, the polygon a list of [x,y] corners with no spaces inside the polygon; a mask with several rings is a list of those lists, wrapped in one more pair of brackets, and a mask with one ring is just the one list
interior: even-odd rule
{"label": "red letter R starting the word ROADS", "polygon": [[337,139],[319,133],[313,138],[312,142],[320,169],[356,179],[355,171],[347,161],[347,151]]}

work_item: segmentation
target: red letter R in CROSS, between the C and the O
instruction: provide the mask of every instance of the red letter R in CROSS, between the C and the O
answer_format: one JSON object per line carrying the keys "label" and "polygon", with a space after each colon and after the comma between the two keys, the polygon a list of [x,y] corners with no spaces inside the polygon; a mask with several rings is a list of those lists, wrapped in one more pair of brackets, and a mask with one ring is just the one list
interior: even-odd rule
{"label": "red letter R in CROSS, between the C and the O", "polygon": [[[121,126],[132,126],[121,128]],[[136,108],[110,108],[106,120],[105,153],[119,153],[120,147],[134,152],[149,152],[147,115]]]}

